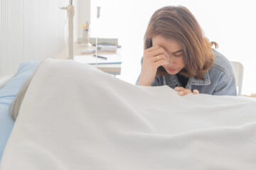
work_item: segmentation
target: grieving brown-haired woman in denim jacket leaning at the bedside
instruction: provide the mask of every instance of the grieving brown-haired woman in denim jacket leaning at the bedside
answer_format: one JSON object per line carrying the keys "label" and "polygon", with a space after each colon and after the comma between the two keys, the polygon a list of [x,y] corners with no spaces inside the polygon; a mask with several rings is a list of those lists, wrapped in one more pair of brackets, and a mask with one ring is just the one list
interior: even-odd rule
{"label": "grieving brown-haired woman in denim jacket leaning at the bedside", "polygon": [[236,96],[230,62],[211,48],[196,18],[184,6],[157,10],[144,36],[141,86],[167,85],[186,94]]}

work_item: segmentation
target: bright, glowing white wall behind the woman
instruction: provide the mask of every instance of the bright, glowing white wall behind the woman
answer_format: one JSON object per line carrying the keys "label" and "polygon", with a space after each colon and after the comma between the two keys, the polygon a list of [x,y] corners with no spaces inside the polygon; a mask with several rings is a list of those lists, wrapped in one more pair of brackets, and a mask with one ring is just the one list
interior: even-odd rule
{"label": "bright, glowing white wall behind the woman", "polygon": [[95,6],[102,6],[98,36],[118,37],[122,45],[121,79],[134,84],[140,72],[139,60],[143,55],[143,37],[149,18],[162,6],[183,5],[191,10],[210,40],[219,44],[219,51],[228,60],[241,62],[245,67],[242,94],[256,93],[256,2],[251,0],[94,0],[92,25],[95,23]]}

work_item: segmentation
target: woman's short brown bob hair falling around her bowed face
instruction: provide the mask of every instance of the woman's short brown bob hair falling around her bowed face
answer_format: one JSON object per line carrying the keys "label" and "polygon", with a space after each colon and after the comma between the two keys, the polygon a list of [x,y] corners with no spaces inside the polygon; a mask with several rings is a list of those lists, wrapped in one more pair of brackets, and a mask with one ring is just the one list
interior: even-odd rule
{"label": "woman's short brown bob hair falling around her bowed face", "polygon": [[[181,74],[186,77],[203,79],[204,74],[213,67],[214,54],[196,18],[184,6],[165,6],[157,10],[149,21],[144,35],[144,50],[152,46],[152,38],[160,35],[166,40],[176,40],[182,46],[185,67]],[[164,67],[159,67],[156,76],[168,75]]]}

